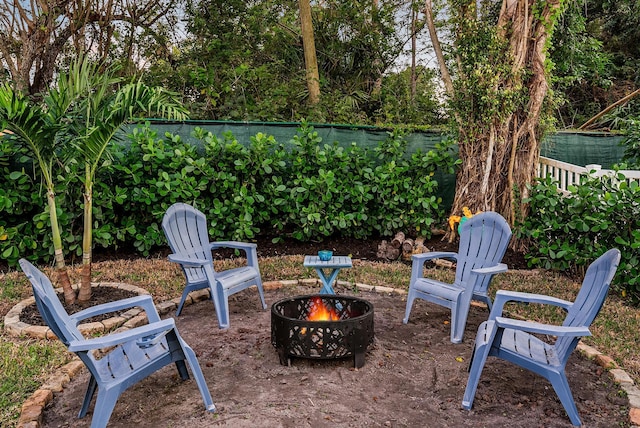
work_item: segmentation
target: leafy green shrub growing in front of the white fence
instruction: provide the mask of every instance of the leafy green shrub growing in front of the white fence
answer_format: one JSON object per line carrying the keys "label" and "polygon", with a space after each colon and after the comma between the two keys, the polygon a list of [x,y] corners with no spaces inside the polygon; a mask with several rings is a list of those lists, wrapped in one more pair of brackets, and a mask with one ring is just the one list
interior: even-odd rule
{"label": "leafy green shrub growing in front of the white fence", "polygon": [[517,228],[529,244],[529,265],[583,274],[610,248],[622,253],[615,284],[640,300],[640,186],[622,174],[583,176],[568,195],[551,178],[539,180],[528,198],[530,213]]}

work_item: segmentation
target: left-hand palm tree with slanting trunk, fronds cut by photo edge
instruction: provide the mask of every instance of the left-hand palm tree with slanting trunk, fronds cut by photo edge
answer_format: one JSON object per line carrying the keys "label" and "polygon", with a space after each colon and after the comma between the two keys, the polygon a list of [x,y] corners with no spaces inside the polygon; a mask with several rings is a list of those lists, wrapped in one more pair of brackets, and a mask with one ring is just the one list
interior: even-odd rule
{"label": "left-hand palm tree with slanting trunk, fronds cut by photo edge", "polygon": [[55,93],[52,97],[45,98],[45,105],[49,105],[43,109],[22,93],[14,91],[7,83],[0,85],[0,130],[11,131],[14,138],[31,151],[35,164],[40,169],[47,188],[57,279],[64,290],[65,302],[72,304],[75,292],[64,261],[53,170],[60,141],[57,136],[62,122],[59,113],[66,110],[66,102],[69,102],[66,97]]}

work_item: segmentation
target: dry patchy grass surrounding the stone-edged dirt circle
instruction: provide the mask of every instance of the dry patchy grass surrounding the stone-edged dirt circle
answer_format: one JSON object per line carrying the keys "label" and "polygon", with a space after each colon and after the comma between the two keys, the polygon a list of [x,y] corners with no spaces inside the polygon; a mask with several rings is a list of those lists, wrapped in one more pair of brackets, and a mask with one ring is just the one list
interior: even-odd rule
{"label": "dry patchy grass surrounding the stone-edged dirt circle", "polygon": [[[240,266],[244,260],[216,261],[217,269]],[[303,256],[269,257],[259,260],[263,281],[317,278],[313,269],[305,268]],[[52,277],[51,269],[44,272]],[[454,271],[446,267],[427,266],[425,275],[451,282]],[[70,269],[72,282],[78,282],[80,270]],[[338,279],[352,283],[407,290],[411,266],[406,263],[380,263],[354,260],[352,269],[343,269]],[[94,263],[94,282],[125,282],[148,290],[156,302],[182,294],[184,277],[180,267],[166,259],[117,260]],[[28,281],[21,272],[2,276],[0,316],[20,300],[31,295]],[[493,294],[498,289],[541,293],[572,301],[580,283],[552,272],[508,272],[495,277]],[[268,302],[269,303],[269,302]],[[540,305],[510,305],[507,310],[527,319],[559,323],[563,313]],[[398,319],[403,314],[398,314]],[[401,328],[401,327],[400,327]],[[583,341],[612,357],[629,375],[640,382],[640,310],[630,307],[610,292],[605,305],[592,325],[593,336]],[[466,338],[472,340],[472,338]],[[417,356],[417,358],[420,356]],[[33,339],[16,339],[0,333],[0,426],[15,426],[20,408],[55,370],[66,363],[70,354],[59,343]]]}

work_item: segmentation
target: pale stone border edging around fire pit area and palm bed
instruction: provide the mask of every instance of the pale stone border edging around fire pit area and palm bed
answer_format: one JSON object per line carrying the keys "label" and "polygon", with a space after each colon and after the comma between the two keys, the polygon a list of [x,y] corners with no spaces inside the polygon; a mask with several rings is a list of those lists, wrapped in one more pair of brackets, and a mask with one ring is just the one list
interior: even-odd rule
{"label": "pale stone border edging around fire pit area and palm bed", "polygon": [[[390,293],[390,294],[398,294],[398,295],[406,294],[406,291],[399,290],[397,288],[392,288],[392,287],[373,286],[368,284],[352,283],[348,281],[339,281],[339,280],[336,281],[336,283],[338,285],[355,287],[356,289],[359,289],[362,291],[371,291],[375,293]],[[104,284],[105,286],[107,284],[118,284],[122,288],[131,289],[132,291],[134,291],[133,289],[135,289],[135,291],[142,290],[144,293],[141,293],[141,294],[149,294],[148,292],[146,292],[146,290],[143,290],[139,287],[135,287],[128,284],[101,283],[99,285],[102,285],[102,284]],[[269,281],[269,282],[265,282],[263,284],[263,287],[265,290],[274,290],[283,286],[298,285],[298,284],[322,285],[319,279],[297,279],[297,280],[286,280],[286,281]],[[185,301],[185,306],[191,305],[193,303],[196,303],[202,300],[207,300],[207,299],[209,299],[208,290],[205,289],[205,290],[195,291],[187,297]],[[23,302],[27,302],[29,300],[31,300],[30,304],[35,303],[33,297]],[[21,304],[23,302],[21,302]],[[171,310],[175,310],[178,307],[179,302],[180,302],[180,298],[172,299],[172,300],[157,304],[156,308],[158,309],[158,312],[160,313],[160,315],[164,315],[170,312]],[[7,315],[5,316],[5,330],[7,330],[9,325],[7,323],[7,318],[9,318],[9,314],[11,314],[12,317],[10,318],[9,321],[11,321],[12,324],[11,324],[11,327],[9,327],[10,330],[8,330],[9,334],[11,335],[27,334],[27,335],[31,335],[32,337],[56,339],[55,335],[51,332],[51,330],[48,327],[30,326],[20,321],[19,319],[20,312],[22,312],[26,304],[29,304],[29,303],[25,303],[24,306],[21,306],[19,311],[18,309],[16,309],[16,307],[18,307],[20,304],[16,305],[16,307],[14,307],[15,311],[14,309],[12,309],[11,311],[9,311],[9,313],[7,313]],[[474,302],[472,302],[472,304],[475,305]],[[484,305],[478,304],[478,306],[484,306]],[[133,311],[137,311],[137,312],[134,314]],[[15,313],[12,313],[12,312],[15,312]],[[120,323],[120,326],[118,327],[119,329],[136,327],[146,322],[146,315],[140,314],[140,312],[142,312],[141,309],[132,309],[130,311],[127,311],[127,314],[129,312],[132,312],[131,316]],[[117,318],[124,318],[124,316],[117,317]],[[98,326],[97,324],[100,324],[100,326]],[[84,325],[81,324],[79,326],[79,329],[83,333],[85,331],[104,332],[105,330],[110,330],[106,328],[107,325],[111,325],[112,327],[116,326],[115,324],[112,324],[111,322],[109,322],[109,320],[106,320],[104,322],[99,322],[99,323],[89,323]],[[84,329],[81,329],[80,327],[83,327],[83,326],[86,326],[86,327],[84,327]],[[36,327],[40,327],[40,328],[36,328]],[[99,330],[93,330],[94,328],[98,328]],[[42,334],[42,329],[45,330],[44,334]],[[38,336],[33,336],[34,334],[38,334]],[[633,381],[631,376],[629,376],[627,372],[621,369],[611,357],[604,355],[603,353],[601,353],[600,351],[598,351],[597,349],[591,346],[585,345],[582,342],[578,342],[578,346],[576,347],[576,349],[581,354],[586,356],[588,359],[595,361],[596,364],[598,364],[600,367],[609,371],[609,375],[612,377],[613,381],[618,385],[620,385],[622,390],[627,394],[627,398],[629,400],[629,422],[631,423],[631,428],[640,428],[640,389],[635,385],[635,382]],[[45,406],[53,400],[53,394],[56,392],[62,392],[64,387],[71,381],[72,378],[78,375],[78,373],[80,373],[80,371],[82,371],[83,368],[84,368],[84,363],[82,363],[82,361],[80,361],[80,359],[76,356],[73,358],[71,362],[60,367],[52,376],[50,376],[49,379],[23,403],[22,409],[20,412],[20,418],[18,419],[17,428],[40,428],[42,425],[42,412]]]}

